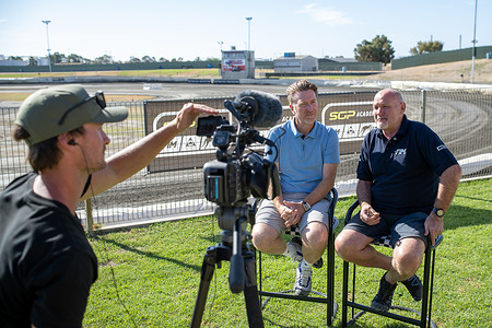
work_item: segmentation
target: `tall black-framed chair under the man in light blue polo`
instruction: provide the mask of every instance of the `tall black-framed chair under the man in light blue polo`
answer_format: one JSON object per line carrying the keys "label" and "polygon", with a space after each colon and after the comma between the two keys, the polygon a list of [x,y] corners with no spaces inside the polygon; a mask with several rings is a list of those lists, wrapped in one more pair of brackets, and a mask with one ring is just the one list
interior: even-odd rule
{"label": "tall black-framed chair under the man in light blue polo", "polygon": [[[320,293],[317,291],[311,291],[309,295],[315,294],[318,296],[300,296],[295,295],[293,290],[282,291],[282,292],[268,292],[263,291],[262,285],[262,267],[261,267],[261,251],[258,250],[258,294],[261,296],[267,296],[267,298],[261,303],[261,309],[265,309],[267,303],[271,300],[271,297],[279,298],[289,298],[296,301],[306,301],[306,302],[316,302],[316,303],[325,303],[326,312],[327,312],[327,325],[331,326],[331,323],[337,315],[338,305],[333,300],[333,289],[335,289],[335,230],[338,226],[338,219],[335,218],[335,206],[338,200],[338,192],[335,187],[328,194],[331,198],[331,203],[328,209],[328,245],[327,245],[327,255],[326,255],[326,270],[327,270],[327,292]],[[292,226],[290,230],[285,231],[286,235],[300,236],[301,232],[298,226]],[[260,298],[261,300],[261,298]]]}

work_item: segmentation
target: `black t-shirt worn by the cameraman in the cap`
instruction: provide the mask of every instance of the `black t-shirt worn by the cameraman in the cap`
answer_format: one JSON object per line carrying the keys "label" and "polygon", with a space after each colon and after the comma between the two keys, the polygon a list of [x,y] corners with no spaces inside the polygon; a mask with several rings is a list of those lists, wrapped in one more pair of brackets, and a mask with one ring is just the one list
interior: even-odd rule
{"label": "black t-shirt worn by the cameraman in the cap", "polygon": [[82,327],[97,259],[79,219],[33,191],[35,177],[0,194],[0,327]]}

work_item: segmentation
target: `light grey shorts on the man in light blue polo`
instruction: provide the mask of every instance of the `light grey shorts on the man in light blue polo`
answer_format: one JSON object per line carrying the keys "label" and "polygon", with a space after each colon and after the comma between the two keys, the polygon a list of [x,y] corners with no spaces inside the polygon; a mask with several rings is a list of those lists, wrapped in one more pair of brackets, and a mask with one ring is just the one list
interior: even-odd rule
{"label": "light grey shorts on the man in light blue polo", "polygon": [[[283,200],[300,202],[306,198],[307,194],[284,194]],[[298,222],[300,231],[302,232],[309,222],[323,222],[328,227],[328,209],[330,207],[330,199],[324,198],[311,207],[311,210],[304,213]],[[279,234],[282,234],[286,226],[285,221],[280,216],[273,201],[263,199],[256,212],[256,223],[265,223],[274,227]]]}

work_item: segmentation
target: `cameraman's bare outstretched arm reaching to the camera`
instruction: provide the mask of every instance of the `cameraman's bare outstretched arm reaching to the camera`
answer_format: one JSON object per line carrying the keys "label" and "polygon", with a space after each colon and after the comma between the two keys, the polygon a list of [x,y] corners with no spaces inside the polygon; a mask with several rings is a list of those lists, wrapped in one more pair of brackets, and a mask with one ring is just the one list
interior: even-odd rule
{"label": "cameraman's bare outstretched arm reaching to the camera", "polygon": [[[106,161],[106,167],[93,174],[94,195],[109,189],[149,165],[174,137],[195,121],[200,113],[218,114],[219,110],[188,103],[171,122],[110,156]],[[84,199],[92,196],[92,192],[86,192]]]}

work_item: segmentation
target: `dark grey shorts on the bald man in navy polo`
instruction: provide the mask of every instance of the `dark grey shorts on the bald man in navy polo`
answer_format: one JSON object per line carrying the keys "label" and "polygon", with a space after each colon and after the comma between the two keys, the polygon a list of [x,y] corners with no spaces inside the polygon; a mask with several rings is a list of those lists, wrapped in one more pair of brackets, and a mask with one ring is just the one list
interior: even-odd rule
{"label": "dark grey shorts on the bald man in navy polo", "polygon": [[406,237],[419,237],[427,246],[427,237],[424,236],[424,222],[429,214],[415,212],[410,214],[382,214],[376,225],[368,225],[361,220],[360,213],[355,214],[344,229],[354,230],[367,237],[377,239],[380,236],[390,236],[391,246]]}

